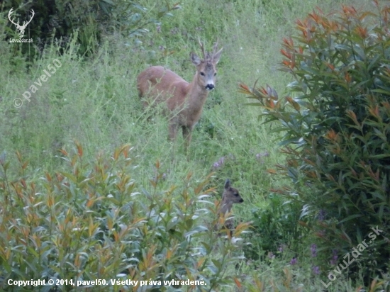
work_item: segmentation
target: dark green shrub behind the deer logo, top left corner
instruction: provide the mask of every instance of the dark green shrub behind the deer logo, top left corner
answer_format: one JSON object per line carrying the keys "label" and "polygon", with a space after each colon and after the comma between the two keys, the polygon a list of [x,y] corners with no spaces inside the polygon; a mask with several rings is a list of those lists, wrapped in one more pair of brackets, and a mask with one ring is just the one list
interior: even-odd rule
{"label": "dark green shrub behind the deer logo, top left corner", "polygon": [[[20,18],[20,23],[28,19],[31,9],[35,11],[31,23],[26,29],[24,38],[33,38],[35,45],[42,50],[45,45],[51,43],[52,38],[63,41],[66,45],[74,30],[79,30],[79,53],[95,52],[101,43],[104,33],[122,33],[125,38],[135,40],[147,33],[150,23],[159,24],[165,16],[172,16],[171,11],[178,9],[177,4],[170,5],[168,1],[154,4],[150,11],[145,8],[145,1],[30,1],[22,5],[19,0],[6,1],[0,8],[4,18],[11,8],[15,21]],[[144,3],[143,3],[144,2]],[[8,19],[7,19],[8,20]],[[8,21],[7,21],[8,22]],[[7,39],[16,38],[16,30],[11,22],[7,25]],[[23,53],[29,55],[35,49],[29,43],[22,43]],[[28,56],[31,57],[31,56]]]}

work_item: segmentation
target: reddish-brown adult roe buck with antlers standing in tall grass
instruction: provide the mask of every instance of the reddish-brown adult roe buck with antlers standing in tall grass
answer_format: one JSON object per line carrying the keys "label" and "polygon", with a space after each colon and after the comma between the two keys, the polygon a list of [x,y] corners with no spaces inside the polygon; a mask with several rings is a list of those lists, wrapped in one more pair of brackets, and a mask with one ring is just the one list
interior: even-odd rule
{"label": "reddish-brown adult roe buck with antlers standing in tall grass", "polygon": [[216,64],[222,52],[222,48],[217,52],[218,40],[214,44],[213,52],[205,52],[201,40],[198,41],[204,59],[201,60],[194,52],[189,54],[192,64],[196,66],[191,83],[162,66],[145,69],[137,79],[140,97],[150,96],[155,98],[157,103],[167,103],[170,115],[169,138],[176,139],[177,130],[182,128],[186,150],[191,142],[191,131],[201,117],[208,91],[215,87]]}

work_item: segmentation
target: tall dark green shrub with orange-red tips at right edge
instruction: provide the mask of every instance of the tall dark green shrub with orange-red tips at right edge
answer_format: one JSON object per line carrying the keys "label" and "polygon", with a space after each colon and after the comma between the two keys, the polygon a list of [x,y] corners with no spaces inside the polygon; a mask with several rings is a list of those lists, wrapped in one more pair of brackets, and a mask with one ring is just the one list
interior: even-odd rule
{"label": "tall dark green shrub with orange-red tips at right edge", "polygon": [[281,50],[294,96],[240,85],[265,123],[279,121],[287,159],[278,167],[293,186],[275,191],[299,203],[301,225],[323,248],[352,252],[383,230],[355,259],[366,277],[386,270],[390,255],[390,6],[374,4],[376,12],[342,6],[296,22]]}

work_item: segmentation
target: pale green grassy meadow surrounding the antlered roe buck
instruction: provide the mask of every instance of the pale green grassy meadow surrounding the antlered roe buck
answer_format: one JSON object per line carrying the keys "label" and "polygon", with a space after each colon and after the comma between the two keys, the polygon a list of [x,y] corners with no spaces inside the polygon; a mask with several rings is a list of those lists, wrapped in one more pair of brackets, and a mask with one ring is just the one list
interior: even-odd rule
{"label": "pale green grassy meadow surrounding the antlered roe buck", "polygon": [[[153,9],[154,1],[140,2]],[[263,124],[260,108],[245,105],[250,100],[238,93],[240,82],[252,86],[256,81],[262,86],[270,84],[279,94],[286,93],[291,77],[278,70],[282,39],[294,33],[297,18],[305,17],[316,6],[332,11],[342,4],[366,5],[362,0],[183,0],[181,9],[172,11],[160,26],[147,27],[150,32],[137,41],[110,33],[104,35],[96,54],[85,57],[77,54],[75,33],[65,47],[54,40],[30,61],[17,52],[17,45],[1,38],[8,21],[1,19],[0,160],[2,167],[9,164],[6,171],[0,167],[0,181],[8,181],[12,192],[12,181],[23,176],[28,184],[34,182],[39,193],[45,193],[43,181],[48,173],[54,177],[55,173],[72,171],[74,164],[65,153],[79,153],[82,149],[83,167],[88,168],[96,157],[110,161],[116,149],[130,145],[134,192],[153,193],[156,188],[150,181],[158,177],[161,196],[169,190],[169,196],[174,198],[184,189],[196,196],[193,186],[206,181],[203,191],[215,191],[208,191],[209,196],[203,200],[213,206],[221,198],[225,179],[230,179],[245,200],[233,207],[236,224],[256,220],[260,214],[269,220],[263,222],[267,230],[248,228],[238,236],[241,240],[228,253],[234,261],[225,266],[225,282],[212,291],[260,291],[259,287],[263,291],[374,291],[367,286],[360,290],[366,284],[349,279],[347,271],[337,275],[328,288],[321,283],[329,282],[330,270],[315,270],[319,264],[311,257],[313,238],[304,236],[296,223],[300,210],[290,209],[270,191],[290,184],[267,171],[284,163],[279,136],[270,133],[277,125]],[[181,132],[176,142],[167,139],[168,122],[161,108],[143,108],[136,79],[143,69],[159,64],[191,81],[195,69],[189,52],[201,54],[198,37],[206,44],[206,50],[211,50],[218,39],[223,53],[217,65],[216,89],[208,96],[186,155]],[[53,60],[61,65],[31,94],[30,101],[24,99],[22,94]],[[16,107],[15,99],[21,99],[23,104]],[[17,152],[20,161],[28,162],[23,173]],[[0,200],[4,202],[4,198]],[[143,202],[145,198],[134,196],[133,200]],[[18,208],[18,202],[14,204],[9,220],[24,216],[23,208]],[[197,220],[206,224],[208,217],[210,213]],[[301,232],[299,240],[281,240],[295,236],[282,230],[282,226],[289,225],[291,234]],[[211,257],[218,258],[218,251]],[[0,259],[6,262],[5,257]],[[316,261],[319,260],[329,258],[321,257],[318,250]],[[11,267],[1,271],[0,279],[10,275],[7,273],[11,273]],[[12,287],[7,289],[13,291]],[[86,289],[83,291],[98,291]],[[56,291],[73,290],[60,287]]]}

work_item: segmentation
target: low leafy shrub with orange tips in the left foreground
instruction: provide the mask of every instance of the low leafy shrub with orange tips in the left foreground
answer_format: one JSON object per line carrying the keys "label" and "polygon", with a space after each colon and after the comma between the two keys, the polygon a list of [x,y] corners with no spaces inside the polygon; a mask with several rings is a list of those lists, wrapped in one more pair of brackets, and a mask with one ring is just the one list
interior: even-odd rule
{"label": "low leafy shrub with orange tips in the left foreground", "polygon": [[[225,270],[238,259],[237,247],[200,219],[217,212],[214,205],[199,208],[213,191],[202,191],[209,177],[194,185],[188,175],[184,186],[163,191],[157,162],[157,176],[144,188],[131,178],[136,167],[129,151],[126,145],[89,164],[76,143],[74,152],[62,150],[67,170],[38,181],[28,176],[19,153],[18,174],[1,155],[1,291],[16,290],[9,279],[106,280],[108,286],[95,284],[93,291],[161,291],[164,281],[173,279],[204,281],[204,286],[187,286],[197,291],[231,283]],[[211,218],[210,225],[217,220]],[[235,236],[245,228],[241,224]],[[138,283],[113,286],[111,279]],[[141,287],[139,281],[147,283]],[[78,291],[72,283],[45,286],[45,291]]]}

